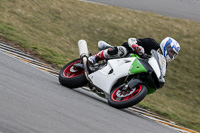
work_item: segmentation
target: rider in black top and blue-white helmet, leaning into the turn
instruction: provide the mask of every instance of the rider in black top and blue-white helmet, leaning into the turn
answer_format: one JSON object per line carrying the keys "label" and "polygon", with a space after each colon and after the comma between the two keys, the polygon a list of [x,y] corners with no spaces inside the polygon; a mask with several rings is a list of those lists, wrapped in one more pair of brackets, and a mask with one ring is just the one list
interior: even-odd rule
{"label": "rider in black top and blue-white helmet, leaning into the turn", "polygon": [[98,42],[98,47],[101,50],[94,56],[89,57],[89,61],[92,64],[99,62],[104,59],[113,59],[125,57],[130,53],[136,53],[138,55],[144,54],[151,55],[151,50],[158,50],[164,55],[167,62],[172,61],[176,58],[180,51],[179,43],[171,37],[166,37],[158,44],[152,38],[129,38],[128,42],[122,44],[122,46],[111,46],[104,41]]}

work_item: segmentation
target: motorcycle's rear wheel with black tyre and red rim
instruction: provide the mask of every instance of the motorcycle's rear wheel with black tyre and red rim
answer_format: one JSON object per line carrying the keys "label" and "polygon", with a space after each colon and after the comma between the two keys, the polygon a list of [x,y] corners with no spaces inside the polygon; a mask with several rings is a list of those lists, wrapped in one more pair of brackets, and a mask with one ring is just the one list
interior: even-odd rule
{"label": "motorcycle's rear wheel with black tyre and red rim", "polygon": [[59,73],[59,82],[69,88],[77,88],[87,84],[85,71],[74,67],[74,64],[80,63],[81,59],[76,59],[65,65]]}

